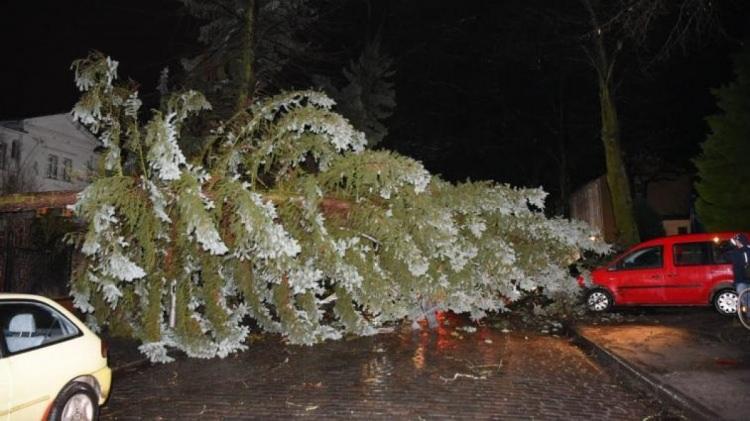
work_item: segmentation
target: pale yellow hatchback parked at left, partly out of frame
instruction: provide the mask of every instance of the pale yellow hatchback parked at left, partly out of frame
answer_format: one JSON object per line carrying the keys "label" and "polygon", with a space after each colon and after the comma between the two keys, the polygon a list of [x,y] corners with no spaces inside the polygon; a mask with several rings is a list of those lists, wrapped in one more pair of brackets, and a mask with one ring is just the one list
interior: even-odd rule
{"label": "pale yellow hatchback parked at left, partly out of frame", "polygon": [[0,293],[0,418],[92,420],[109,395],[107,347],[54,301]]}

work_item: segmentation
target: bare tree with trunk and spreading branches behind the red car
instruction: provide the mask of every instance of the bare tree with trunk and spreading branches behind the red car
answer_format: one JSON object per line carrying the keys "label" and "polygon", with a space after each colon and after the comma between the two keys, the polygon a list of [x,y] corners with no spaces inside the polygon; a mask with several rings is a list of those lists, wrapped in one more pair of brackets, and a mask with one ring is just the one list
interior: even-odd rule
{"label": "bare tree with trunk and spreading branches behind the red car", "polygon": [[[565,3],[565,8],[569,4]],[[612,194],[619,241],[634,244],[639,240],[633,195],[625,165],[621,141],[620,115],[616,88],[625,50],[640,58],[647,69],[664,60],[675,49],[687,49],[721,33],[716,2],[710,0],[579,0],[579,11],[559,16],[558,24],[580,28],[580,43],[596,74],[601,119],[601,141],[607,168],[607,183]],[[568,9],[569,10],[569,9]],[[581,13],[582,12],[582,13]],[[666,29],[657,39],[656,28]]]}

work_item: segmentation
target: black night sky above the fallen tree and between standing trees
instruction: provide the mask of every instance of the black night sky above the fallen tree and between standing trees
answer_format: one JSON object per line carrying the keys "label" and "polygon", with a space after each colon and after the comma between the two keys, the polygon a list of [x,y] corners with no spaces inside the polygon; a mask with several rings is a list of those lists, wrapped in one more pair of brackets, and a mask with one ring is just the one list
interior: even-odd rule
{"label": "black night sky above the fallen tree and between standing trees", "polygon": [[[616,92],[634,171],[647,154],[675,172],[694,172],[690,159],[705,140],[704,117],[716,112],[710,89],[731,81],[731,54],[748,35],[750,2],[724,3],[726,36],[648,66],[645,50],[623,53]],[[328,4],[324,23],[310,34],[325,60],[310,63],[311,72],[340,74],[374,34],[395,59],[397,108],[385,147],[450,180],[542,185],[553,200],[561,156],[573,187],[604,172],[593,70],[567,38],[575,29],[555,32],[535,8],[565,2]],[[120,77],[140,82],[148,103],[159,71],[175,72],[181,57],[197,51],[199,22],[180,7],[171,0],[2,2],[0,120],[70,110],[77,97],[70,63],[91,50],[120,61]],[[289,88],[305,83],[290,78]]]}

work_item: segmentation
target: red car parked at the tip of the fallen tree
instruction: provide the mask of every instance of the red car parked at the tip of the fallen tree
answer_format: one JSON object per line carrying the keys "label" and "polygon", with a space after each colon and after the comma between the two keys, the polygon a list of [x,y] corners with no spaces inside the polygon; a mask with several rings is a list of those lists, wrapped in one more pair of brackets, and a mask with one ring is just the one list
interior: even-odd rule
{"label": "red car parked at the tip of the fallen tree", "polygon": [[[591,273],[586,306],[709,306],[737,311],[732,267],[721,244],[734,233],[684,234],[640,243]],[[582,282],[582,280],[579,280]]]}

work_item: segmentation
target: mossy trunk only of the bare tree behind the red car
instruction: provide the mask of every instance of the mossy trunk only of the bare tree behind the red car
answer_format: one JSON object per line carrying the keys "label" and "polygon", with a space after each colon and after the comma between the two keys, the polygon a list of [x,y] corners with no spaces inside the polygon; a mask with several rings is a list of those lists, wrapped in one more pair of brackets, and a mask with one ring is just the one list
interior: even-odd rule
{"label": "mossy trunk only of the bare tree behind the red car", "polygon": [[638,243],[640,239],[633,210],[630,181],[622,159],[620,122],[612,97],[612,86],[601,78],[599,79],[599,105],[602,118],[602,143],[607,164],[607,184],[612,196],[618,242],[622,245],[632,245]]}

